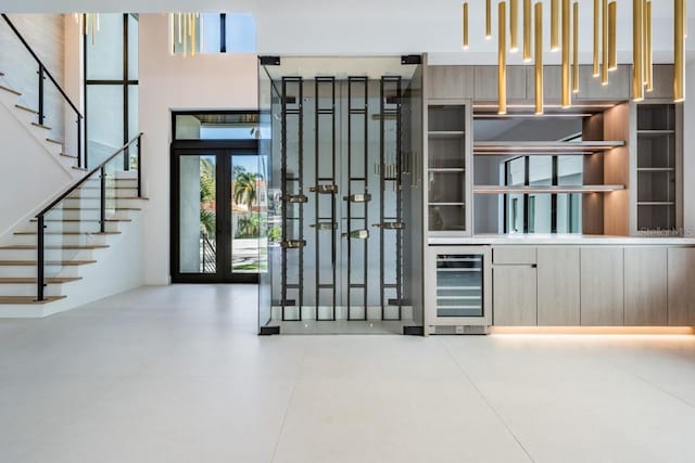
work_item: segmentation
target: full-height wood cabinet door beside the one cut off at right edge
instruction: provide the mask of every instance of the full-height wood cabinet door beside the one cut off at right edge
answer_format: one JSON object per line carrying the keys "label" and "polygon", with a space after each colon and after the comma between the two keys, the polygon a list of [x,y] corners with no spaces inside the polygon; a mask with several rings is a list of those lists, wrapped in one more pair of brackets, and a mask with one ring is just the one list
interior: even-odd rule
{"label": "full-height wood cabinet door beside the one cut off at right edge", "polygon": [[664,247],[626,247],[626,326],[664,326],[667,257]]}

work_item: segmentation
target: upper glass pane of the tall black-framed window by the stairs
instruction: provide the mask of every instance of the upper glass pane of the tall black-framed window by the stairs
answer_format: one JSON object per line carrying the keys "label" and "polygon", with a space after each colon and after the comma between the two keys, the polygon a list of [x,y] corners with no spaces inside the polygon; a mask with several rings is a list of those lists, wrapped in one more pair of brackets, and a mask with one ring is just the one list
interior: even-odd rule
{"label": "upper glass pane of the tall black-framed window by the stairs", "polygon": [[93,41],[87,39],[87,78],[123,80],[123,14],[102,13],[100,23]]}

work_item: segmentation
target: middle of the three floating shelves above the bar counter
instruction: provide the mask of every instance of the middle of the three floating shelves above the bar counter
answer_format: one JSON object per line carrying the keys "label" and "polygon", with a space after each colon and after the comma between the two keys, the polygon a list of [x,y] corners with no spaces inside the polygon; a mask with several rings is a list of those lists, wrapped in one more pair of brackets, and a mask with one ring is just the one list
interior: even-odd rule
{"label": "middle of the three floating shelves above the bar counter", "polygon": [[593,154],[624,146],[624,141],[479,141],[473,143],[473,154],[497,156],[501,154]]}

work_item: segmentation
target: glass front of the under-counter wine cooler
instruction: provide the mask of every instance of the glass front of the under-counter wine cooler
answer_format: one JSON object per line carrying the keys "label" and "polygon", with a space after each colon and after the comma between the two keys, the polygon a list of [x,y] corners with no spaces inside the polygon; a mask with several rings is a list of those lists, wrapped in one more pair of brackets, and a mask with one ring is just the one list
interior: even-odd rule
{"label": "glass front of the under-counter wine cooler", "polygon": [[437,256],[437,316],[482,317],[482,255]]}

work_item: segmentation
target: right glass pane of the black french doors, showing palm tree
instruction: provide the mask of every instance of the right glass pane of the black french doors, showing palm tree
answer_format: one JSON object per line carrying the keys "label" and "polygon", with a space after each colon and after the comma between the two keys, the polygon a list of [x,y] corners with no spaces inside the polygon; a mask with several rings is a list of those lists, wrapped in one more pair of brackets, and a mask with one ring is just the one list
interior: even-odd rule
{"label": "right glass pane of the black french doors, showing palm tree", "polygon": [[231,271],[267,271],[267,191],[257,155],[231,158]]}

